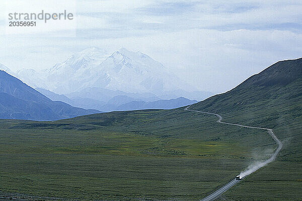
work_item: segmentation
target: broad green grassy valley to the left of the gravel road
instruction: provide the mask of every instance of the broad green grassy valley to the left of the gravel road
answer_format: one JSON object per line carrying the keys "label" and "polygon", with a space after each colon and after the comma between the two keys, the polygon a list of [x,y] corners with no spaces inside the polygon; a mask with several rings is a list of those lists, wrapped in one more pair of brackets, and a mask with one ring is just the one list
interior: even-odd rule
{"label": "broad green grassy valley to the left of the gravel road", "polygon": [[3,192],[81,200],[198,200],[275,147],[183,109],[0,125]]}

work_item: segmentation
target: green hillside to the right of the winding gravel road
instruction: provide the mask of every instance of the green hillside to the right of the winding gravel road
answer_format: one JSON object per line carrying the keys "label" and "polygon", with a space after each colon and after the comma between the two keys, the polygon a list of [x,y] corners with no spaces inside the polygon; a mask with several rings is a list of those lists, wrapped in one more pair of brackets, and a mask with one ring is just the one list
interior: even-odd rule
{"label": "green hillside to the right of the winding gravel road", "polygon": [[219,113],[226,122],[273,128],[284,143],[275,162],[245,178],[221,200],[301,199],[302,59],[278,62],[192,108]]}

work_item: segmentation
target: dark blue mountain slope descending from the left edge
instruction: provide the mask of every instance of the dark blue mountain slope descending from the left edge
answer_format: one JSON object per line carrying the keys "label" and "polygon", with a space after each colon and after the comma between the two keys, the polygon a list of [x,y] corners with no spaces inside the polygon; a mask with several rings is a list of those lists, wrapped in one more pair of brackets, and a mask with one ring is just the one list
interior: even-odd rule
{"label": "dark blue mountain slope descending from the left edge", "polygon": [[21,80],[0,70],[0,119],[50,121],[100,113],[54,102]]}

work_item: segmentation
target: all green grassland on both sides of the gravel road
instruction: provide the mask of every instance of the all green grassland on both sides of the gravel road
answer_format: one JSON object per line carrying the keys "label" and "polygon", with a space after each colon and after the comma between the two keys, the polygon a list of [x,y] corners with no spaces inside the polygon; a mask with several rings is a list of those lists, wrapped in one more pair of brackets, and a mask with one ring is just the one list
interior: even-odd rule
{"label": "all green grassland on both sides of the gravel road", "polygon": [[[276,161],[220,200],[302,200],[301,67],[279,62],[191,107],[273,128],[284,143]],[[265,131],[184,108],[0,120],[0,137],[1,191],[44,199],[198,200],[276,148]]]}

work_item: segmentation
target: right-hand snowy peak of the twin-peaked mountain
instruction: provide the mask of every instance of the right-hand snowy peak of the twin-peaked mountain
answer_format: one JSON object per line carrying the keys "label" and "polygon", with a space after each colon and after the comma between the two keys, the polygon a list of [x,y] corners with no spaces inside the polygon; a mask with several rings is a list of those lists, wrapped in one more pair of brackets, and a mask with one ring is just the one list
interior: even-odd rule
{"label": "right-hand snowy peak of the twin-peaked mountain", "polygon": [[125,48],[111,54],[95,71],[98,74],[93,85],[108,89],[157,95],[176,89],[192,89],[160,62]]}

